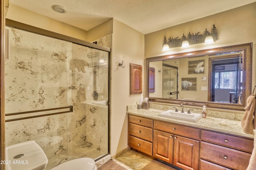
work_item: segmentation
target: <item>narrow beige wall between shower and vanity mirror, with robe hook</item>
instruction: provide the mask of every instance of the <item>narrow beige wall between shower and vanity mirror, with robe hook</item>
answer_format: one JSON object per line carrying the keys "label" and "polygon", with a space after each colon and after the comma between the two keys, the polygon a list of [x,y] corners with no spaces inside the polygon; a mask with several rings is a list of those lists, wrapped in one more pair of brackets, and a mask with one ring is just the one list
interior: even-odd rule
{"label": "narrow beige wall between shower and vanity mirror, with robe hook", "polygon": [[[141,96],[130,95],[129,66],[144,65],[144,35],[114,19],[112,42],[110,154],[113,156],[127,147],[126,106],[136,104]],[[118,67],[122,61],[124,68]]]}

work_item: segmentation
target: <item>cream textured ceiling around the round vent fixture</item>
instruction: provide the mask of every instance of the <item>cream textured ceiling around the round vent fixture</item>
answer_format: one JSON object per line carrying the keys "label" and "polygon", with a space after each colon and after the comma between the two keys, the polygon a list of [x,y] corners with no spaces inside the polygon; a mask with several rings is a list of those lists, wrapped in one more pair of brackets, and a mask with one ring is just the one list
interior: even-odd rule
{"label": "cream textured ceiling around the round vent fixture", "polygon": [[[256,0],[10,0],[10,4],[90,30],[110,18],[148,34]],[[60,14],[51,6],[64,6]]]}

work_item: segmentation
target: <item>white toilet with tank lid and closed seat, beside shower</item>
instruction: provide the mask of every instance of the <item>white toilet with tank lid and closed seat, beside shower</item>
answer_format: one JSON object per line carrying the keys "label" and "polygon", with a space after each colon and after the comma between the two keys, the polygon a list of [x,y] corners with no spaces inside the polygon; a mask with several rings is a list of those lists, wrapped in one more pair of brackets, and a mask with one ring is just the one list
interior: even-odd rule
{"label": "white toilet with tank lid and closed seat, beside shower", "polygon": [[[6,170],[44,170],[48,159],[42,148],[34,141],[6,147]],[[52,170],[97,170],[91,158],[78,158],[54,167]]]}

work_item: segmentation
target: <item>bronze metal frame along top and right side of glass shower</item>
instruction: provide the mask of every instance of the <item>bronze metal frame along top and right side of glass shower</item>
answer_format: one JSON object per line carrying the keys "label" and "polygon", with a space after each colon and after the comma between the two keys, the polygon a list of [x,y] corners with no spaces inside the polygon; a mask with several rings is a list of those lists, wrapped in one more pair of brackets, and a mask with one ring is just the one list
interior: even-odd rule
{"label": "bronze metal frame along top and right side of glass shower", "polygon": [[[30,25],[27,25],[27,24],[16,22],[16,21],[13,21],[13,20],[6,19],[5,22],[6,22],[5,26],[11,27],[11,28],[17,28],[17,29],[20,29],[20,30],[40,34],[40,35],[43,35],[43,36],[48,36],[48,37],[51,37],[51,38],[57,38],[57,39],[60,39],[60,40],[76,43],[78,45],[83,45],[83,46],[86,46],[86,47],[92,47],[92,48],[95,48],[95,49],[99,49],[99,50],[108,52],[108,101],[107,101],[107,105],[108,105],[108,153],[101,156],[100,158],[110,154],[110,94],[111,94],[110,93],[110,89],[111,89],[111,87],[110,87],[110,85],[111,85],[111,83],[110,83],[110,80],[111,80],[110,79],[110,73],[111,73],[110,72],[110,70],[111,70],[111,68],[110,68],[110,63],[111,63],[111,61],[110,61],[110,52],[111,52],[111,49],[108,48],[108,47],[103,47],[103,46],[100,46],[100,45],[97,45],[97,44],[94,44],[94,43],[86,42],[84,40],[80,40],[80,39],[77,39],[77,38],[72,38],[72,37],[69,37],[69,36],[65,36],[65,35],[62,35],[62,34],[51,32],[51,31],[48,31],[48,30],[44,30],[44,29],[41,29],[41,28],[37,28],[37,27],[34,27],[34,26],[30,26]],[[4,28],[5,28],[5,26],[4,26]],[[2,66],[3,65],[4,64],[2,63]],[[3,84],[3,82],[1,82],[1,83]],[[2,91],[3,91],[3,89],[2,89]],[[4,101],[1,101],[1,102],[4,103]],[[3,106],[3,104],[1,106]],[[2,115],[4,116],[4,112],[2,112]],[[3,120],[3,123],[4,123],[4,120]],[[2,136],[5,136],[5,134],[2,134]],[[5,142],[2,138],[2,145],[4,143]],[[2,146],[2,148],[3,147],[4,146]],[[100,159],[100,158],[98,158],[98,159]]]}

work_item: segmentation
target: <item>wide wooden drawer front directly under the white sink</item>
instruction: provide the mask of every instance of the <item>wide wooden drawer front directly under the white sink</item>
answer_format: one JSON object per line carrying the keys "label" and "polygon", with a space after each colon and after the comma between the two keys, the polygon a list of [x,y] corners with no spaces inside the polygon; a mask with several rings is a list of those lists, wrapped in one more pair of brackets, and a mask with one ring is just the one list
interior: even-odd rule
{"label": "wide wooden drawer front directly under the white sink", "polygon": [[175,125],[161,121],[154,121],[154,128],[196,140],[200,139],[200,129],[197,128],[184,127],[182,125]]}

